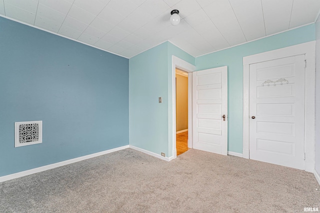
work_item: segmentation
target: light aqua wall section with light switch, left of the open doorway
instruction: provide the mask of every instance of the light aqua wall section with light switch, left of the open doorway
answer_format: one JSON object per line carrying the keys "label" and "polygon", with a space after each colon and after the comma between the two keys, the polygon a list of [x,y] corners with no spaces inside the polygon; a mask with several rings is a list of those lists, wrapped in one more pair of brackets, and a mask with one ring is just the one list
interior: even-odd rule
{"label": "light aqua wall section with light switch, left of the open doorway", "polygon": [[129,59],[130,145],[166,157],[172,156],[172,55],[194,64],[170,42]]}

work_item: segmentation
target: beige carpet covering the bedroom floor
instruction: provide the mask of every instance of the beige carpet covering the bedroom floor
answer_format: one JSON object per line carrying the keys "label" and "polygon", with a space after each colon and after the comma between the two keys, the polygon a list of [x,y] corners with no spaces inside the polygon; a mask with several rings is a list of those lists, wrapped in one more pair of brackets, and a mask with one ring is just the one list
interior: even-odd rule
{"label": "beige carpet covering the bedroom floor", "polygon": [[165,162],[125,149],[0,183],[1,213],[302,213],[312,173],[188,150]]}

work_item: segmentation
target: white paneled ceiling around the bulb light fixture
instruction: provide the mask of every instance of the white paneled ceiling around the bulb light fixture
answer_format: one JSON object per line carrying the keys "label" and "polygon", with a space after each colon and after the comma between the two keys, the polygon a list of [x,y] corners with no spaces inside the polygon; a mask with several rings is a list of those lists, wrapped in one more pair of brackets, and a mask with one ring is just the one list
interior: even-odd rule
{"label": "white paneled ceiling around the bulb light fixture", "polygon": [[166,40],[196,57],[314,23],[319,9],[320,0],[0,0],[4,17],[126,58]]}

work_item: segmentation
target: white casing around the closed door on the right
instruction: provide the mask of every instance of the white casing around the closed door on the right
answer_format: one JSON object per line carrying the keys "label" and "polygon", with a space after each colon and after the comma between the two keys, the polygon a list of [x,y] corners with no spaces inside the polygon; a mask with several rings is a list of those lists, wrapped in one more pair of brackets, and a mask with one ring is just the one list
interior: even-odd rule
{"label": "white casing around the closed door on the right", "polygon": [[250,64],[295,55],[305,55],[304,92],[304,170],[313,172],[315,164],[315,41],[243,57],[243,158],[249,159],[249,71]]}

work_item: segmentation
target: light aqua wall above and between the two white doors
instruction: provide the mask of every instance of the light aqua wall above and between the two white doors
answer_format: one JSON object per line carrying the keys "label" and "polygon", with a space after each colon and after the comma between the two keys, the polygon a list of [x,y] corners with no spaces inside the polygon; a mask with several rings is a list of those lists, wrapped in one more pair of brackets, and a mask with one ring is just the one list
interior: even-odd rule
{"label": "light aqua wall above and between the two white doors", "polygon": [[228,66],[228,151],[242,153],[243,57],[312,40],[314,24],[195,58],[196,70]]}

